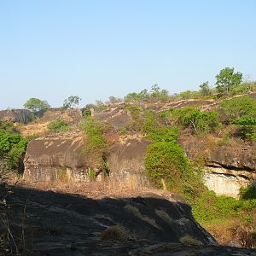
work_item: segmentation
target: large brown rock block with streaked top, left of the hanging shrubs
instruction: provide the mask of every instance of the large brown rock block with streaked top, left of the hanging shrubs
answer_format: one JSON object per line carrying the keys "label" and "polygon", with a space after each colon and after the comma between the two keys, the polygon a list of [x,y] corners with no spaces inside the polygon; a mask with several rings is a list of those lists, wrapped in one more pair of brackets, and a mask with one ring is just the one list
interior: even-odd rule
{"label": "large brown rock block with streaked top, left of the hanging shrubs", "polygon": [[83,146],[80,131],[32,140],[26,150],[23,177],[30,182],[55,181],[57,177],[86,179]]}

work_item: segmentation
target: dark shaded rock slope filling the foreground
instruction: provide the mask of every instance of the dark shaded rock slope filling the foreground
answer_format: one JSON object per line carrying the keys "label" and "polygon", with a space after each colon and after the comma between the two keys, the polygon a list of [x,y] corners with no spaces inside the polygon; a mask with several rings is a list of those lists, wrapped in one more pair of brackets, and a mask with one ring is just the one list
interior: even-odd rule
{"label": "dark shaded rock slope filling the foreground", "polygon": [[1,185],[0,196],[2,255],[256,255],[218,246],[189,205],[153,193],[91,199]]}

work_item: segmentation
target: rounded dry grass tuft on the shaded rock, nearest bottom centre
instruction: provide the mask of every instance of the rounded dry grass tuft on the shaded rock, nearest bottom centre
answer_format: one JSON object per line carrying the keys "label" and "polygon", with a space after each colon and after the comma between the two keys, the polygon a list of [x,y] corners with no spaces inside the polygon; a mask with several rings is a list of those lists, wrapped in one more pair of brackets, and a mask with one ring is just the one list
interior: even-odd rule
{"label": "rounded dry grass tuft on the shaded rock, nearest bottom centre", "polygon": [[110,226],[102,232],[102,241],[127,241],[129,233],[123,226]]}

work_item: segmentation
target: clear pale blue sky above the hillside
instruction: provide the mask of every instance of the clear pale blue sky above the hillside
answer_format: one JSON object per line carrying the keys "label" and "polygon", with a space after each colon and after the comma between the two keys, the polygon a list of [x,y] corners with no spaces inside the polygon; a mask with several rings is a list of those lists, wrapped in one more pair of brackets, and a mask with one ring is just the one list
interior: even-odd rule
{"label": "clear pale blue sky above the hillside", "polygon": [[255,0],[0,0],[0,109],[256,79]]}

